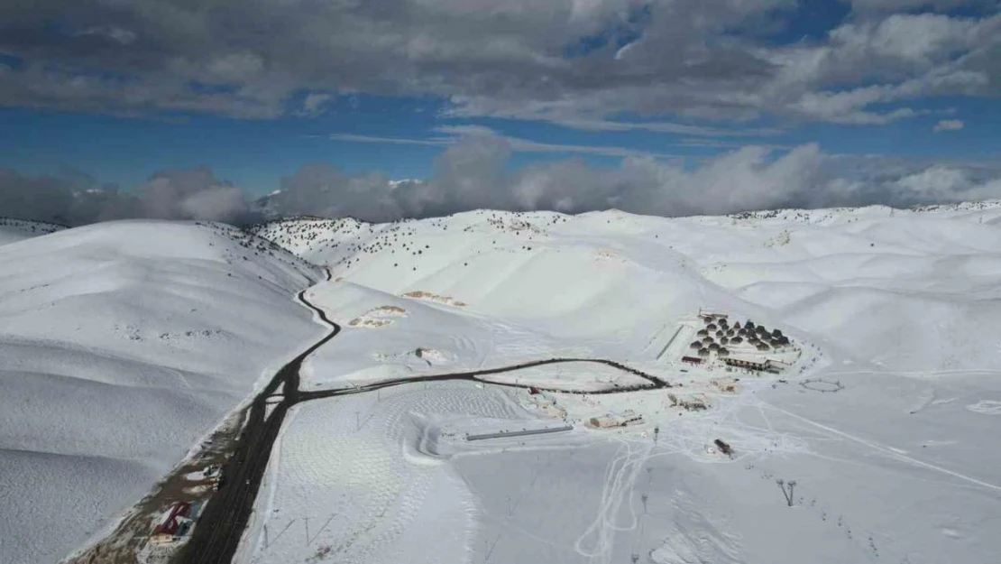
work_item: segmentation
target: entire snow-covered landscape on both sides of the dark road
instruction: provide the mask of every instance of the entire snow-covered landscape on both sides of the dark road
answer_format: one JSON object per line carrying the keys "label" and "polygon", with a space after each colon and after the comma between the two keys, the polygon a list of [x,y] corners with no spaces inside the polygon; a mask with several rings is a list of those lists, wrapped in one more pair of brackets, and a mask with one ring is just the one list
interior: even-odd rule
{"label": "entire snow-covered landscape on both sides of the dark road", "polygon": [[[480,210],[249,229],[284,250],[168,222],[12,242],[0,560],[106,529],[319,338],[311,286],[341,331],[236,562],[992,562],[999,225],[994,202]],[[323,396],[547,359],[575,362]]]}

